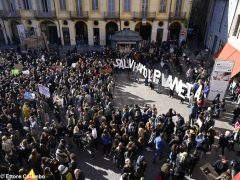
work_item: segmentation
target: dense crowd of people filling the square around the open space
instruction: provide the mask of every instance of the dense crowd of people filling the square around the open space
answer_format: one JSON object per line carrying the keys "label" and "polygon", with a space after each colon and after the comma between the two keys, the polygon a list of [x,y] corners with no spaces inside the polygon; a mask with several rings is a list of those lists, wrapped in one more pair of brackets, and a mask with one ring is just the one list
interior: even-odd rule
{"label": "dense crowd of people filling the square around the open space", "polygon": [[[65,59],[55,51],[2,51],[0,158],[4,163],[0,173],[23,175],[33,169],[49,180],[83,180],[78,153],[87,150],[94,160],[101,149],[121,170],[123,180],[144,179],[148,166],[146,150],[154,151],[152,163],[164,161],[158,175],[161,179],[191,176],[199,158],[212,151],[214,137],[218,135],[214,118],[225,110],[225,101],[217,96],[210,105],[206,103],[209,85],[204,66],[193,69],[181,48],[168,43],[161,48],[150,44],[141,52],[144,55],[138,61],[150,69],[160,63],[167,73],[175,70],[183,74],[179,59],[188,62],[186,79],[194,82],[189,118],[172,108],[160,114],[154,105],[115,107],[113,63],[122,55],[111,49],[81,53],[73,49]],[[19,73],[12,73],[13,69]],[[49,89],[50,97],[40,93],[39,85]],[[193,95],[200,85],[203,93],[197,100]],[[31,93],[31,98],[26,93]],[[235,127],[240,129],[238,117]],[[226,131],[219,138],[222,160],[214,164],[215,170],[219,175],[229,173],[233,177],[240,170],[238,162],[229,163],[224,153],[226,148],[234,150],[239,133]],[[77,153],[73,153],[75,147]]]}

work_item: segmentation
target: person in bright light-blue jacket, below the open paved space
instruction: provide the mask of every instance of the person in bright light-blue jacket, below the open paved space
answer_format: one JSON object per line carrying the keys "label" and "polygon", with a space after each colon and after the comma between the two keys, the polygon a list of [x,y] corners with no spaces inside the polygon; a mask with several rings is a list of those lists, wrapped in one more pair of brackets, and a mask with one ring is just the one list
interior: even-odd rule
{"label": "person in bright light-blue jacket, below the open paved space", "polygon": [[159,158],[159,160],[163,157],[163,148],[165,146],[163,133],[159,134],[155,138],[154,144],[155,144],[155,153],[154,153],[153,163],[156,162],[157,157]]}

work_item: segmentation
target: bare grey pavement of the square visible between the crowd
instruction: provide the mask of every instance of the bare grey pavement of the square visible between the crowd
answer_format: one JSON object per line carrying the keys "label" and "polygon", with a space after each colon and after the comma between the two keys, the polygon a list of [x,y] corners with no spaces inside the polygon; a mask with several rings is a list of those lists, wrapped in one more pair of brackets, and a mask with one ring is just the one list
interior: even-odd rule
{"label": "bare grey pavement of the square visible between the crowd", "polygon": [[[144,86],[143,80],[140,83],[135,83],[129,81],[128,76],[125,73],[118,74],[116,77],[116,89],[115,89],[115,106],[122,107],[125,104],[139,104],[143,106],[144,104],[155,104],[158,113],[166,113],[169,108],[175,109],[177,112],[183,115],[185,119],[188,117],[188,108],[187,104],[180,104],[178,99],[170,99],[163,92],[158,94],[157,92],[150,90],[149,87]],[[225,130],[232,129],[232,126],[228,123],[231,119],[231,113],[229,113],[231,107],[227,107],[227,112],[222,115],[220,120],[215,121],[215,126],[218,131],[225,132]],[[204,154],[201,157],[200,162],[197,164],[194,173],[193,179],[204,180],[199,167],[203,164],[210,162],[214,163],[218,159],[219,151],[217,149],[217,140],[213,147],[212,152]],[[103,157],[102,149],[99,149],[95,159],[90,160],[87,152],[82,151],[78,152],[80,167],[85,172],[87,179],[93,180],[119,180],[120,171],[115,168],[112,161]],[[165,150],[165,157],[167,157],[168,149]],[[155,180],[163,161],[157,162],[156,164],[152,163],[153,152],[146,152],[145,157],[148,162],[148,167],[145,174],[145,179]],[[239,158],[231,151],[226,151],[226,157],[229,159]],[[190,179],[186,177],[187,179]]]}

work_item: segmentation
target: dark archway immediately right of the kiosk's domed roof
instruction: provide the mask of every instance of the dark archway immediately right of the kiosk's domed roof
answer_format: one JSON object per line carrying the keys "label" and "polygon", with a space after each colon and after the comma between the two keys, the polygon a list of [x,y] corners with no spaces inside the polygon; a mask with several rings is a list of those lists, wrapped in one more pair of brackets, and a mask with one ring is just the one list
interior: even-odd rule
{"label": "dark archway immediately right of the kiosk's domed roof", "polygon": [[143,40],[151,41],[152,25],[150,23],[137,23],[135,26],[135,31],[139,32]]}

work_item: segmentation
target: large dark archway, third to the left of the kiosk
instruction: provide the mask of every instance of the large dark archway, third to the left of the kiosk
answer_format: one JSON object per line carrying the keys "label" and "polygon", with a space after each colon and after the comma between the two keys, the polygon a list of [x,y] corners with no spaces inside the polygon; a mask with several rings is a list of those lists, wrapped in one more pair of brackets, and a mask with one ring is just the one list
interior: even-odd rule
{"label": "large dark archway, third to the left of the kiosk", "polygon": [[52,21],[43,21],[40,24],[41,31],[46,35],[49,44],[58,44],[57,26]]}

